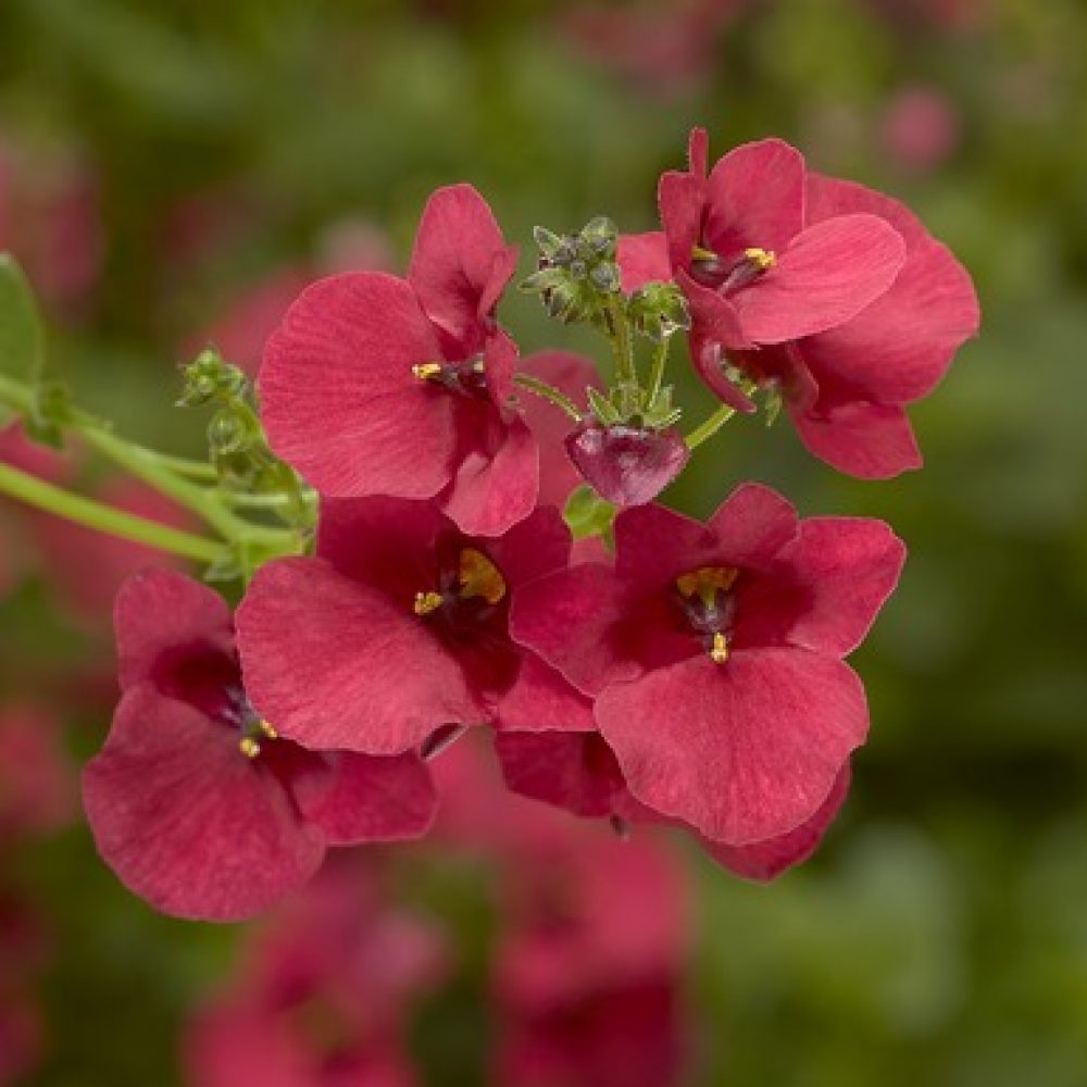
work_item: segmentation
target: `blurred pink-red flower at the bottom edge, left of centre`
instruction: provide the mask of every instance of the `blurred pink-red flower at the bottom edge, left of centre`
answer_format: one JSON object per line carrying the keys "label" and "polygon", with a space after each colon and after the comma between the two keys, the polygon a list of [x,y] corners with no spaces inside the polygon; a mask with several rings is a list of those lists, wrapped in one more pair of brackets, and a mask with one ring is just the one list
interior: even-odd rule
{"label": "blurred pink-red flower at the bottom edge, left of centre", "polygon": [[247,948],[185,1038],[193,1087],[412,1087],[412,1002],[446,972],[435,932],[329,865]]}

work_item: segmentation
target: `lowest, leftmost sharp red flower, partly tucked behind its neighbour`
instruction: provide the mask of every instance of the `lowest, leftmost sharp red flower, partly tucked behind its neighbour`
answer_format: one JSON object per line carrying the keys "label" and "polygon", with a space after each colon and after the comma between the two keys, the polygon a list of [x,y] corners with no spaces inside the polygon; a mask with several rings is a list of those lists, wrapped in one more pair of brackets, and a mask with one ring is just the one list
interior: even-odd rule
{"label": "lowest, leftmost sharp red flower, partly tucked behind its neighbour", "polygon": [[327,846],[429,826],[434,787],[414,755],[307,751],[255,714],[211,589],[136,575],[116,633],[123,696],[84,803],[103,860],[158,909],[246,917],[301,886]]}

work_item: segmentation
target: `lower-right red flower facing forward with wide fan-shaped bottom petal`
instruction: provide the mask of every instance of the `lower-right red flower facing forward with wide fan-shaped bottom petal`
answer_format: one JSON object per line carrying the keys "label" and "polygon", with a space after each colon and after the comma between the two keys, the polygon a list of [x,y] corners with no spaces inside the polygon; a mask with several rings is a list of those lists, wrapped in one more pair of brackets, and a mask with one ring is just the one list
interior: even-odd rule
{"label": "lower-right red flower facing forward with wide fan-shaped bottom petal", "polygon": [[882,522],[798,522],[740,487],[705,524],[659,505],[615,521],[615,565],[521,589],[514,637],[583,694],[632,795],[713,842],[811,820],[867,732],[841,658],[894,589],[904,549]]}

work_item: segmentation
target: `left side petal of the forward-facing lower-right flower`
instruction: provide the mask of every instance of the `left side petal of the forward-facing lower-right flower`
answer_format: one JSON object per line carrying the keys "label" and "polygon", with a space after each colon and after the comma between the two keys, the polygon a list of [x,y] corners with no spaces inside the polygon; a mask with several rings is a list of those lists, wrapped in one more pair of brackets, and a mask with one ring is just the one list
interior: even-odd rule
{"label": "left side petal of the forward-facing lower-right flower", "polygon": [[586,563],[518,588],[510,634],[591,696],[608,683],[641,674],[641,665],[616,637],[626,610],[625,590],[614,572]]}

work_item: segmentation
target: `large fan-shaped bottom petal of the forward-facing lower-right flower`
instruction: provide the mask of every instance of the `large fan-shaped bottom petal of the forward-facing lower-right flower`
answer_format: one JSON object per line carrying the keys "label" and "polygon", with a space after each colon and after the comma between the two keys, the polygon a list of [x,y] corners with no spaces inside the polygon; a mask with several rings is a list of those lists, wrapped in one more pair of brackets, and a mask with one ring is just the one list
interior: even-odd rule
{"label": "large fan-shaped bottom petal of the forward-facing lower-right flower", "polygon": [[608,687],[596,716],[638,800],[732,846],[811,819],[869,725],[852,670],[796,649],[683,661]]}

